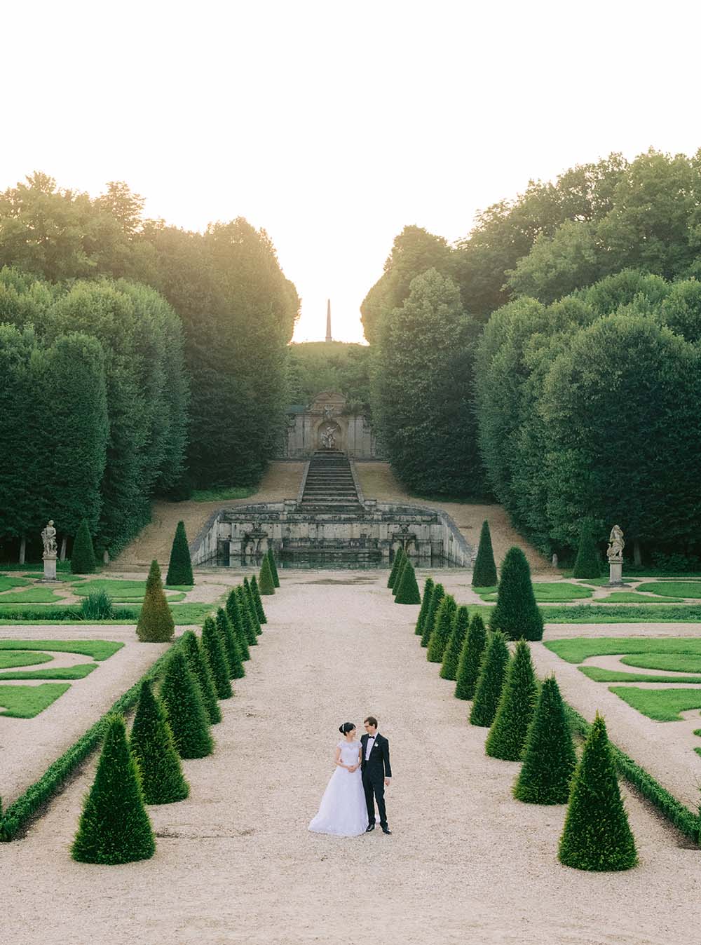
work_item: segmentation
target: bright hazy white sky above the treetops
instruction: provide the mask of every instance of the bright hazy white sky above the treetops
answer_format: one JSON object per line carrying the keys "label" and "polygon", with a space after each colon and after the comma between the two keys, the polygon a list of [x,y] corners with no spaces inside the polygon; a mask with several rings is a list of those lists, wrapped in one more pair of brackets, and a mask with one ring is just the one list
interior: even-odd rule
{"label": "bright hazy white sky above the treetops", "polygon": [[695,0],[113,0],[3,9],[0,188],[32,170],[265,227],[296,340],[362,339],[394,236],[574,163],[701,146]]}

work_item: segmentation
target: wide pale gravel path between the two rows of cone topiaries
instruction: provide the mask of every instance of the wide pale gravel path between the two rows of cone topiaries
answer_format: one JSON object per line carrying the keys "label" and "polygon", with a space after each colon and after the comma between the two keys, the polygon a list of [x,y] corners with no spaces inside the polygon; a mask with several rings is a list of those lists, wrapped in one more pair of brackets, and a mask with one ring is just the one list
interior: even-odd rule
{"label": "wide pale gravel path between the two rows of cone topiaries", "polygon": [[[485,756],[486,730],[467,724],[468,705],[413,635],[418,608],[395,605],[386,576],[372,577],[281,572],[248,675],[221,703],[214,755],[185,764],[191,799],[150,809],[153,860],[99,868],[68,858],[89,771],[25,840],[0,845],[5,915],[22,945],[47,935],[55,945],[701,939],[701,852],[628,798],[639,868],[558,865],[564,808],[511,799],[517,765]],[[337,727],[366,713],[391,742],[393,836],[310,834]]]}

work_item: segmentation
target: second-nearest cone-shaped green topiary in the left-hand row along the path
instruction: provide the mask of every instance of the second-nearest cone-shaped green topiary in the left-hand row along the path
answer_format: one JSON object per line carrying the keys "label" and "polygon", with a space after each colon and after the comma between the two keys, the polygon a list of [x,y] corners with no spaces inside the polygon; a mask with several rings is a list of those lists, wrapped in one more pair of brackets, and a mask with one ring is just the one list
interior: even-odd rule
{"label": "second-nearest cone-shaped green topiary in the left-hand row along the path", "polygon": [[182,774],[173,732],[147,681],[141,684],[129,751],[141,774],[145,803],[171,804],[188,796],[190,787]]}

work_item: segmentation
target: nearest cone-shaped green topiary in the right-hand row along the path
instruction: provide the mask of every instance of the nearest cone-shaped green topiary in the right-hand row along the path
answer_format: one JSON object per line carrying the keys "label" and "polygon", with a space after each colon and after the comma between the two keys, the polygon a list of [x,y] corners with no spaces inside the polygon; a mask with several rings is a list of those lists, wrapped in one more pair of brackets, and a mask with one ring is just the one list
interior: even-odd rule
{"label": "nearest cone-shaped green topiary in the right-hand row along the path", "polygon": [[630,869],[638,862],[608,747],[607,727],[599,713],[574,771],[557,858],[566,867],[599,871]]}

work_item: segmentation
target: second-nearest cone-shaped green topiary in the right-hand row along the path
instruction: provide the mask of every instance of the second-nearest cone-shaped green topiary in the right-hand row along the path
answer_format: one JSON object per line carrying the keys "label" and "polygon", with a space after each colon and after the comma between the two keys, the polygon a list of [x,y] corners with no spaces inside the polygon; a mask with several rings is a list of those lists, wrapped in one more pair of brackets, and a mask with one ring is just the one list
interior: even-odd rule
{"label": "second-nearest cone-shaped green topiary in the right-hand row along the path", "polygon": [[514,797],[526,804],[566,804],[576,756],[554,676],[543,681],[523,749]]}

